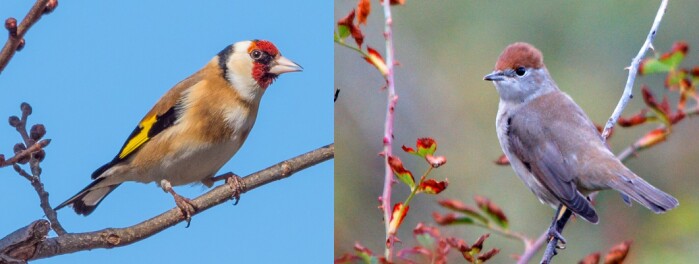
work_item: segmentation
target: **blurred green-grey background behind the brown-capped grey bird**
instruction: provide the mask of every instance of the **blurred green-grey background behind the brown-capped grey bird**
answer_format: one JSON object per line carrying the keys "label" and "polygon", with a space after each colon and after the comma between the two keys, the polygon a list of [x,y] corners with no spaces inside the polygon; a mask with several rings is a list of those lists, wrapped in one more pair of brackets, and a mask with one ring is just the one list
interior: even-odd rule
{"label": "blurred green-grey background behind the brown-capped grey bird", "polygon": [[[335,20],[356,5],[355,0],[335,1]],[[365,43],[384,51],[383,10],[372,1]],[[483,195],[503,207],[510,229],[537,237],[545,230],[553,210],[542,205],[509,166],[496,166],[501,154],[495,134],[498,95],[483,81],[502,49],[526,41],[544,54],[558,85],[597,123],[613,111],[627,78],[624,70],[645,40],[659,1],[416,1],[394,6],[396,59],[396,108],[394,151],[408,169],[424,170],[424,162],[400,151],[418,137],[438,143],[437,154],[448,162],[432,173],[448,178],[449,188],[439,196],[421,195],[411,203],[401,227],[403,244],[414,245],[412,229],[418,222],[434,224],[432,211],[441,211],[436,200],[453,198],[473,204]],[[654,46],[659,52],[686,40],[690,52],[683,66],[699,63],[696,11],[699,1],[671,1]],[[329,36],[328,36],[329,37]],[[350,40],[351,41],[351,40]],[[651,54],[652,56],[652,54]],[[644,107],[639,86],[649,84],[661,95],[664,75],[636,79],[635,100],[624,111],[630,116]],[[381,150],[386,93],[383,78],[357,53],[336,45],[335,88],[335,256],[352,252],[355,241],[383,252],[384,226],[377,209],[382,191]],[[676,98],[671,98],[676,99]],[[655,124],[615,130],[610,145],[616,152],[632,144]],[[587,254],[602,251],[624,240],[633,240],[628,263],[691,263],[699,259],[699,118],[674,127],[665,143],[641,152],[627,162],[633,171],[674,195],[680,206],[665,215],[654,215],[638,204],[627,207],[613,191],[598,196],[601,221],[593,225],[574,220],[564,236],[568,248],[557,263],[575,263]],[[393,202],[402,200],[408,188],[394,185]],[[472,226],[442,228],[446,235],[474,241],[487,231]],[[519,241],[492,235],[486,248],[499,247],[492,263],[512,262],[520,254]],[[452,253],[454,257],[456,254]],[[541,255],[541,253],[539,253]],[[538,258],[537,258],[538,260]]]}

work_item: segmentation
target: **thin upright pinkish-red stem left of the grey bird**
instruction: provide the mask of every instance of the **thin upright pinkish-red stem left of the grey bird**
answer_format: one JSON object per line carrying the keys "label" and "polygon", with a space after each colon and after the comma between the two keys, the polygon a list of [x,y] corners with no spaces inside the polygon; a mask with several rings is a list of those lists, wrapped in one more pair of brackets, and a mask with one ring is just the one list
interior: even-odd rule
{"label": "thin upright pinkish-red stem left of the grey bird", "polygon": [[383,195],[381,196],[381,208],[383,208],[383,218],[386,227],[386,250],[385,257],[388,262],[391,262],[393,258],[393,239],[390,230],[391,221],[391,187],[393,185],[393,171],[391,166],[388,164],[388,158],[393,154],[393,119],[394,119],[394,109],[396,107],[396,102],[398,101],[398,96],[396,95],[395,83],[394,83],[394,48],[393,48],[393,18],[391,17],[391,1],[383,1],[383,10],[385,17],[385,27],[384,27],[384,38],[386,39],[386,66],[388,67],[388,73],[386,74],[386,88],[388,94],[386,96],[386,121],[384,123],[384,135],[383,135],[383,154],[384,154],[384,185],[383,185]]}

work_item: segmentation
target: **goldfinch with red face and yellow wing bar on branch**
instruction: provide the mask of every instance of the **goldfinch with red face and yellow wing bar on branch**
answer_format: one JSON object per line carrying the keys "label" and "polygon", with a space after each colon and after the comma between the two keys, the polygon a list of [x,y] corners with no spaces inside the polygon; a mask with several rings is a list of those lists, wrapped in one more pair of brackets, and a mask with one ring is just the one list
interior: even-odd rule
{"label": "goldfinch with red face and yellow wing bar on branch", "polygon": [[56,207],[88,215],[125,181],[156,182],[189,221],[194,208],[172,186],[202,182],[240,149],[255,124],[260,99],[282,73],[301,71],[269,41],[241,41],[170,89],[92,183]]}

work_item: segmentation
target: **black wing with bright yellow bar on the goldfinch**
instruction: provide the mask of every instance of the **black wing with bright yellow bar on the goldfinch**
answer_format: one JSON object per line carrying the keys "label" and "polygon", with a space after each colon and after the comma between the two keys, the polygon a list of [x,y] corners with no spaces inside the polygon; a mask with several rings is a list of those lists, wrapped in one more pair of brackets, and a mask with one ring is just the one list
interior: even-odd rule
{"label": "black wing with bright yellow bar on the goldfinch", "polygon": [[121,150],[119,150],[119,154],[117,154],[112,161],[95,170],[95,172],[92,173],[92,179],[96,179],[112,166],[127,159],[129,156],[136,153],[136,151],[140,149],[144,143],[148,142],[148,140],[174,125],[177,118],[179,118],[179,113],[176,106],[177,105],[171,107],[162,115],[153,115],[143,120],[136,127],[136,129],[131,132],[131,135],[129,135],[129,138],[124,143],[124,146],[122,146]]}

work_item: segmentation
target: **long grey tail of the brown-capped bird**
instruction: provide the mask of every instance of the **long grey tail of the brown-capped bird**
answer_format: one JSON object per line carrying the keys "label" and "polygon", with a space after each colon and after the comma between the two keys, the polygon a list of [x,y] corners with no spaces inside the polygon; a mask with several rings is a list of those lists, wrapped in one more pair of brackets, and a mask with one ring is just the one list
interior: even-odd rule
{"label": "long grey tail of the brown-capped bird", "polygon": [[636,176],[630,170],[626,175],[618,175],[619,178],[609,184],[609,187],[621,192],[656,214],[680,205],[679,201],[671,195],[655,188],[650,183]]}

